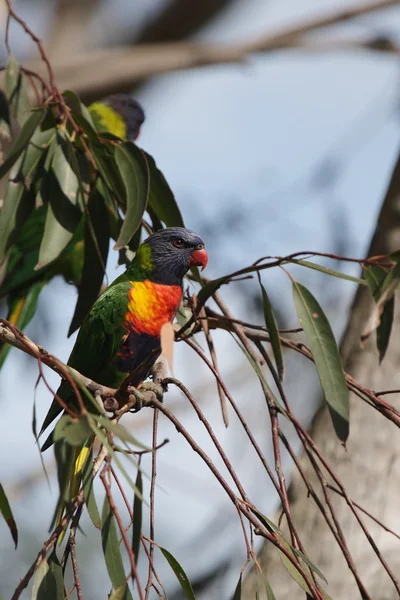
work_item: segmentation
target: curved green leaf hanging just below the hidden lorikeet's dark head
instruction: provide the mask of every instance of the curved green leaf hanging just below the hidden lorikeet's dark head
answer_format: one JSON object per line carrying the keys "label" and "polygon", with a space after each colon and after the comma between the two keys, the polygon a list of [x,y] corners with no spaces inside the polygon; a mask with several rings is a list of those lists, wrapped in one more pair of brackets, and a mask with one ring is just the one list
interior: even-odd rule
{"label": "curved green leaf hanging just below the hidden lorikeet's dark head", "polygon": [[115,160],[125,187],[126,214],[114,246],[120,250],[129,243],[140,227],[149,195],[149,173],[146,158],[134,144],[127,142],[115,148]]}

